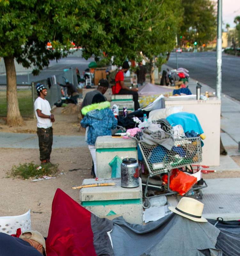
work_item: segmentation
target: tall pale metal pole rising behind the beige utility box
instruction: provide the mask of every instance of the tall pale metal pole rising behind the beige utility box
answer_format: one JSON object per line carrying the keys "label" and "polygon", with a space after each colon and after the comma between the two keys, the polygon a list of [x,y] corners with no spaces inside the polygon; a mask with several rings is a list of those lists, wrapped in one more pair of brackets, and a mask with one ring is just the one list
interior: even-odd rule
{"label": "tall pale metal pole rising behind the beige utility box", "polygon": [[216,95],[221,99],[222,91],[222,0],[218,0],[217,20],[217,85]]}

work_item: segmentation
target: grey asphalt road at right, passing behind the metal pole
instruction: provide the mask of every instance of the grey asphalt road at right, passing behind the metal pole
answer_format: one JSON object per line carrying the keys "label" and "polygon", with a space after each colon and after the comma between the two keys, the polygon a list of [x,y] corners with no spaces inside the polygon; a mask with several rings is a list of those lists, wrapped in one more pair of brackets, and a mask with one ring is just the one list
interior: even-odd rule
{"label": "grey asphalt road at right, passing behind the metal pole", "polygon": [[[178,53],[179,67],[190,72],[190,77],[210,87],[216,87],[216,52]],[[168,66],[176,68],[176,54],[171,53]],[[240,100],[240,57],[222,54],[222,93]]]}

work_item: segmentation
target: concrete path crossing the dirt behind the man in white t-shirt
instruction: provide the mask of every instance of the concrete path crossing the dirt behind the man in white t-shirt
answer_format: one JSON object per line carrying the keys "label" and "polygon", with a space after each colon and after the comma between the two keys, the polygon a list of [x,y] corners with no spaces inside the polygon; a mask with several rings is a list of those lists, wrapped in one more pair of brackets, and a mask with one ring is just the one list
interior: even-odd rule
{"label": "concrete path crossing the dirt behind the man in white t-shirt", "polygon": [[[53,135],[52,148],[86,147],[84,136]],[[0,133],[1,148],[39,148],[36,134]]]}

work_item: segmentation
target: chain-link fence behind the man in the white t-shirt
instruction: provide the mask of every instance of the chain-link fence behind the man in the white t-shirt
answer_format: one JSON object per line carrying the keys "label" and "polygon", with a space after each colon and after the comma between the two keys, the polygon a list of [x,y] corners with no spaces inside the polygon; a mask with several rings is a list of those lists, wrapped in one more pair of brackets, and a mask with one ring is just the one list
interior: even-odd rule
{"label": "chain-link fence behind the man in the white t-shirt", "polygon": [[[66,93],[66,87],[61,87],[57,82],[64,84],[66,81],[73,83],[77,87],[77,75],[76,68],[64,69],[64,70],[43,70],[38,78],[29,83],[29,74],[21,73],[17,74],[17,96],[19,103],[19,110],[22,117],[34,118],[34,101],[38,97],[36,92],[36,84],[41,83],[46,86],[48,94],[46,99],[49,101],[50,106],[54,106],[55,103],[61,101],[62,91]],[[7,116],[7,86],[6,84],[0,84],[0,116]]]}

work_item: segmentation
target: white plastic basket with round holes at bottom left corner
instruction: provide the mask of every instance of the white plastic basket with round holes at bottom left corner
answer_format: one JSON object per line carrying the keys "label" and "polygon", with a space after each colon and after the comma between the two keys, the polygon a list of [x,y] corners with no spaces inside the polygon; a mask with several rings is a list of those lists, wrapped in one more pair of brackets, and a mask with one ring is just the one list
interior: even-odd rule
{"label": "white plastic basket with round holes at bottom left corner", "polygon": [[18,216],[3,216],[0,217],[0,232],[15,235],[17,229],[21,228],[22,232],[31,230],[30,210]]}

